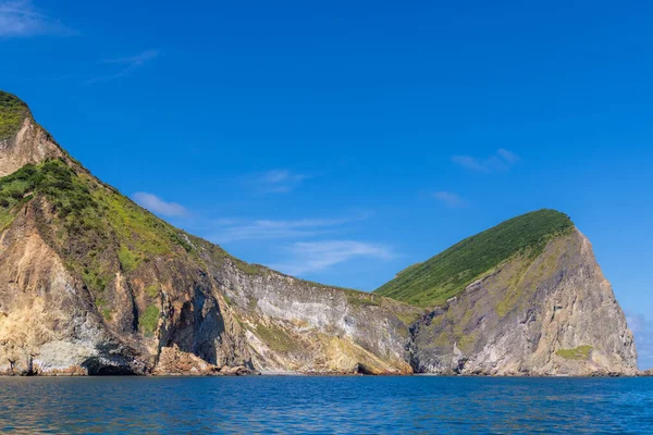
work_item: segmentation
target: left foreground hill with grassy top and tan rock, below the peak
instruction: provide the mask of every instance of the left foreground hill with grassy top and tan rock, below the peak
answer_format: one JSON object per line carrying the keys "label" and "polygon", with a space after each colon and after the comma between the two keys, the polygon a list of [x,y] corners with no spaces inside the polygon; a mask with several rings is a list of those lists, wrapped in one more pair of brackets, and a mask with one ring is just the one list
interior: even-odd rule
{"label": "left foreground hill with grassy top and tan rock, below the peak", "polygon": [[56,159],[0,179],[0,216],[5,371],[145,373],[160,346],[250,366],[184,234],[82,169]]}

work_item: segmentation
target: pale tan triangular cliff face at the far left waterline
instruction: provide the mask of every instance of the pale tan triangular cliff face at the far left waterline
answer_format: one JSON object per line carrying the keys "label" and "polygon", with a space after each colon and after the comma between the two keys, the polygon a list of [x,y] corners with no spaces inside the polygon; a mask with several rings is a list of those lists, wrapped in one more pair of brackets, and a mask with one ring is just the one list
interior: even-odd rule
{"label": "pale tan triangular cliff face at the far left waterline", "polygon": [[106,331],[82,282],[44,241],[29,209],[0,237],[0,373],[97,373],[102,360],[143,371],[134,350]]}

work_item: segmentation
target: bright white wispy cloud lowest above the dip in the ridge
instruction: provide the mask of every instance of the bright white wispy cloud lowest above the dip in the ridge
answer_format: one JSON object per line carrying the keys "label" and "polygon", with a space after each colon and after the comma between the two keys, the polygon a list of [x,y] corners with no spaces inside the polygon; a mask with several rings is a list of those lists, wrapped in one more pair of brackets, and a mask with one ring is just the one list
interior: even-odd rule
{"label": "bright white wispy cloud lowest above the dip in the ridge", "polygon": [[321,272],[355,258],[395,258],[386,246],[355,240],[298,241],[286,251],[289,258],[281,263],[270,264],[270,268],[298,276]]}

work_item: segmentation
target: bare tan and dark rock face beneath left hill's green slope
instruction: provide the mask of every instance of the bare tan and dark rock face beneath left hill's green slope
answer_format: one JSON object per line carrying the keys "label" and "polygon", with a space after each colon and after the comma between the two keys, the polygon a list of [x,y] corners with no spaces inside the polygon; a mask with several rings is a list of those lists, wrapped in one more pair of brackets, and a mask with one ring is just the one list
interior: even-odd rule
{"label": "bare tan and dark rock face beneath left hill's green slope", "polygon": [[44,229],[51,206],[33,201],[0,236],[0,373],[145,374],[163,347],[217,369],[251,368],[243,332],[206,273],[152,259],[126,274],[116,265],[104,288],[90,289]]}

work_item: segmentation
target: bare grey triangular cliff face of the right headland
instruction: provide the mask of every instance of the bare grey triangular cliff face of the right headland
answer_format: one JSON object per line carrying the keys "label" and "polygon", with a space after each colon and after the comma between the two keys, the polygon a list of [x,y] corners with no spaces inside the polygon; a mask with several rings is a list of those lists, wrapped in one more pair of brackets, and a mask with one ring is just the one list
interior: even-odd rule
{"label": "bare grey triangular cliff face of the right headland", "polygon": [[577,229],[518,256],[412,330],[420,372],[636,374],[632,334]]}

